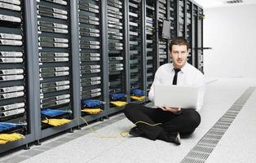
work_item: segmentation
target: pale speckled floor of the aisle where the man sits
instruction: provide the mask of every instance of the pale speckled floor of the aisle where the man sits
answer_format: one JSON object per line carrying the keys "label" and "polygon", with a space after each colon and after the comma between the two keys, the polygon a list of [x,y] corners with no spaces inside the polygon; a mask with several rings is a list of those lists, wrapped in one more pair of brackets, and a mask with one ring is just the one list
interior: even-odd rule
{"label": "pale speckled floor of the aisle where the man sits", "polygon": [[[249,86],[256,86],[256,78],[208,79],[201,125],[180,146],[130,136],[99,138],[85,126],[0,162],[256,162],[256,90]],[[98,134],[116,135],[131,126],[121,113],[92,127]]]}

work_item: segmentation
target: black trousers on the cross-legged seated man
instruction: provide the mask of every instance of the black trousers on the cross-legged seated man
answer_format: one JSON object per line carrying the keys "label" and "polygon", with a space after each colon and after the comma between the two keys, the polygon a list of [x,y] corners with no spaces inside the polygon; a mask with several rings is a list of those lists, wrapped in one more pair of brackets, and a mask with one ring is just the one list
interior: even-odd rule
{"label": "black trousers on the cross-legged seated man", "polygon": [[148,126],[138,123],[136,126],[143,130],[144,136],[148,139],[156,140],[163,132],[179,132],[179,134],[192,134],[199,126],[201,117],[194,109],[183,109],[179,115],[166,112],[161,108],[148,108],[142,104],[127,104],[124,110],[126,117],[136,123],[145,121],[149,124],[162,123],[159,126]]}

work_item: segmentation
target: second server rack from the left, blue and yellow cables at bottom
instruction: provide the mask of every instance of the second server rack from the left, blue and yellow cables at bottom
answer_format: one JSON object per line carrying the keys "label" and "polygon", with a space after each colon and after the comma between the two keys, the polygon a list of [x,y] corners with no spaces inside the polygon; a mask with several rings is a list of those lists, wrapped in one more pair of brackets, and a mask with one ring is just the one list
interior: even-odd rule
{"label": "second server rack from the left, blue and yellow cables at bottom", "polygon": [[[71,41],[71,1],[38,0],[34,3],[36,8],[36,27],[38,29],[38,135],[36,139],[45,138],[63,130],[77,126],[72,121],[64,126],[52,127],[42,123],[49,118],[42,114],[46,108],[63,110],[64,114],[50,118],[66,118],[72,120],[77,117],[73,108],[73,49]],[[36,76],[36,74],[35,74]]]}

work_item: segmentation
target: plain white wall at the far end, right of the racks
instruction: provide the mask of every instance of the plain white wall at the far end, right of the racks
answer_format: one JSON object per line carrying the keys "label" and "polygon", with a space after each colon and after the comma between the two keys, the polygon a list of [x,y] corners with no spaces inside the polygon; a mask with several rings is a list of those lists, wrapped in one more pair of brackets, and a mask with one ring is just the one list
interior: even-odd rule
{"label": "plain white wall at the far end, right of the racks", "polygon": [[207,77],[256,77],[256,5],[205,9]]}

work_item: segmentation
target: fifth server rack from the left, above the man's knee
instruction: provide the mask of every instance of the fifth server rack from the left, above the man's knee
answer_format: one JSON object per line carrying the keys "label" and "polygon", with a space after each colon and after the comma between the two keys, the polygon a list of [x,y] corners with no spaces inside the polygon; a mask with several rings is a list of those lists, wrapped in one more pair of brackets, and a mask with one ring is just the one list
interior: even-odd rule
{"label": "fifth server rack from the left, above the man's knee", "polygon": [[[128,33],[128,58],[127,64],[129,65],[128,79],[130,79],[130,90],[139,89],[145,90],[143,85],[143,33],[141,31],[143,3],[138,0],[130,0],[128,2],[128,15],[129,15],[129,33]],[[130,94],[128,94],[130,95]],[[135,99],[130,99],[130,102],[141,103]]]}

